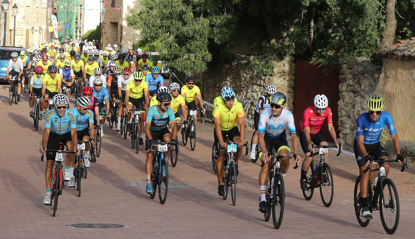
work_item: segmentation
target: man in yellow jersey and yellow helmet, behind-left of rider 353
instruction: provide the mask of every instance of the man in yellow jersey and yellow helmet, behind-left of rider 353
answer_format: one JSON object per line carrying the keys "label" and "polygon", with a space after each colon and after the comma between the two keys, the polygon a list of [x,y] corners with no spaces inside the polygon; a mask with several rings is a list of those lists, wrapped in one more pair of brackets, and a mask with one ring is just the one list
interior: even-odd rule
{"label": "man in yellow jersey and yellow helmet, behind-left of rider 353", "polygon": [[[131,112],[135,105],[137,110],[140,110],[142,114],[138,116],[140,122],[140,144],[143,144],[143,127],[144,127],[144,118],[143,113],[148,110],[149,105],[149,85],[144,81],[144,75],[142,72],[134,73],[134,80],[130,80],[125,88],[125,105],[127,115],[127,131],[131,129]],[[145,104],[144,104],[145,103]],[[118,124],[118,127],[120,124]],[[118,129],[119,130],[119,129]]]}

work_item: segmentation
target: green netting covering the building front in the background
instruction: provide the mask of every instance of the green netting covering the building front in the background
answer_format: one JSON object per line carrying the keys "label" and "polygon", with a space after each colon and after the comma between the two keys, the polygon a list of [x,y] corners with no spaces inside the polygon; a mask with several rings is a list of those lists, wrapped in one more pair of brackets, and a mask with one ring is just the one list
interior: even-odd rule
{"label": "green netting covering the building front in the background", "polygon": [[[71,5],[72,3],[72,5]],[[58,25],[62,25],[62,30],[58,31],[58,39],[75,39],[75,19],[77,11],[75,7],[80,7],[81,0],[59,0],[58,5]],[[69,7],[69,9],[68,9]],[[79,9],[78,9],[79,10]],[[69,28],[65,24],[69,23]]]}

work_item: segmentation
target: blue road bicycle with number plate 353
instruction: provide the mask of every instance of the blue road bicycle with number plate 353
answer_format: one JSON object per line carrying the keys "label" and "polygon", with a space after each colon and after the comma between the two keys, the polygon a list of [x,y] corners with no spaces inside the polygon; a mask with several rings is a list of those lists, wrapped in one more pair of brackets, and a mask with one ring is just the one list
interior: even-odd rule
{"label": "blue road bicycle with number plate 353", "polygon": [[159,186],[159,200],[164,204],[167,199],[168,191],[168,165],[164,159],[165,152],[168,151],[168,146],[164,142],[158,142],[157,146],[151,145],[150,151],[154,149],[154,158],[152,161],[151,182],[153,184],[153,192],[150,193],[150,198],[156,196],[156,189]]}

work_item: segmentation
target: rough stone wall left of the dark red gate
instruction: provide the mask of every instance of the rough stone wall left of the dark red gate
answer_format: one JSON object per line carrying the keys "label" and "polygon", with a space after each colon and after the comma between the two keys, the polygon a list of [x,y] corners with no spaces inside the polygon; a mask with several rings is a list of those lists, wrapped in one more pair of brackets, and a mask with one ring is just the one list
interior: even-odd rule
{"label": "rough stone wall left of the dark red gate", "polygon": [[230,86],[239,97],[250,99],[251,106],[246,117],[254,120],[254,106],[261,95],[265,94],[265,86],[275,85],[277,91],[287,96],[286,108],[293,111],[294,102],[294,58],[284,61],[273,60],[272,76],[258,76],[251,67],[251,58],[236,54],[234,61],[217,67],[212,71],[195,73],[196,81],[201,82],[203,100],[212,103],[213,99],[220,95],[224,86]]}

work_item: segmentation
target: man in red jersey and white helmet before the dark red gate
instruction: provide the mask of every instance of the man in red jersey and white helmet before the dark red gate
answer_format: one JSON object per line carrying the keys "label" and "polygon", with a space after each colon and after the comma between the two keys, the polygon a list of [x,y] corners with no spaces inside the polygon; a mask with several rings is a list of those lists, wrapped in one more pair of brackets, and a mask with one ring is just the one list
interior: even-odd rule
{"label": "man in red jersey and white helmet before the dark red gate", "polygon": [[[303,118],[300,120],[300,144],[304,151],[305,159],[301,168],[300,186],[303,190],[307,190],[306,174],[310,163],[313,159],[311,155],[311,141],[318,146],[327,145],[324,134],[320,132],[320,129],[327,119],[327,126],[334,143],[339,148],[339,142],[337,142],[336,132],[333,127],[332,110],[329,105],[329,101],[325,95],[316,95],[314,97],[314,106],[307,107],[303,112]],[[327,162],[327,153],[324,154],[324,160]],[[322,175],[323,180],[327,177]]]}

